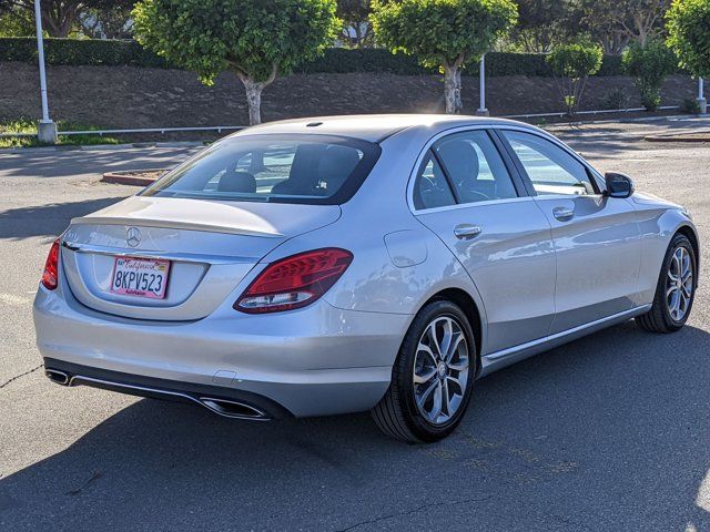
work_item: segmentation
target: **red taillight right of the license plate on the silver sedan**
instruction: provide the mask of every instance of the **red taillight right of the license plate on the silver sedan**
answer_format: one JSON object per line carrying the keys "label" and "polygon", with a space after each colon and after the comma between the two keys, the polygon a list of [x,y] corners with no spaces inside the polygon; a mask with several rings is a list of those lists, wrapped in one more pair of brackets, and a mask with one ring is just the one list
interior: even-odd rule
{"label": "red taillight right of the license plate on the silver sedan", "polygon": [[305,307],[325,294],[353,262],[353,254],[328,247],[282,258],[266,267],[234,304],[248,314]]}

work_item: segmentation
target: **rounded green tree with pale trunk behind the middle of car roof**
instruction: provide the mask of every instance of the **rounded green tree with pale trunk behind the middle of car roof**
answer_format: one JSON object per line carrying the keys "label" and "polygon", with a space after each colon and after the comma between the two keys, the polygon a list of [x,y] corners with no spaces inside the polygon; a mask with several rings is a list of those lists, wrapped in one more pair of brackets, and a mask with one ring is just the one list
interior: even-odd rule
{"label": "rounded green tree with pale trunk behind the middle of car roof", "polygon": [[511,0],[374,0],[371,18],[376,39],[389,50],[439,68],[446,112],[460,113],[462,69],[510,30],[517,8]]}

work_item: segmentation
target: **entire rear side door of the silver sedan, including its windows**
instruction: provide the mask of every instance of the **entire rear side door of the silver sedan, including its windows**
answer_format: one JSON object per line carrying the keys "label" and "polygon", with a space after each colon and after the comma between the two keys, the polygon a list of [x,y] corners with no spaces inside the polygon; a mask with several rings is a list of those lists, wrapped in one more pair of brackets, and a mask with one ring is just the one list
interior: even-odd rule
{"label": "entire rear side door of the silver sedan, including its windows", "polygon": [[487,354],[546,336],[555,315],[550,225],[521,192],[510,161],[484,130],[434,143],[415,181],[417,217],[458,257],[483,297]]}

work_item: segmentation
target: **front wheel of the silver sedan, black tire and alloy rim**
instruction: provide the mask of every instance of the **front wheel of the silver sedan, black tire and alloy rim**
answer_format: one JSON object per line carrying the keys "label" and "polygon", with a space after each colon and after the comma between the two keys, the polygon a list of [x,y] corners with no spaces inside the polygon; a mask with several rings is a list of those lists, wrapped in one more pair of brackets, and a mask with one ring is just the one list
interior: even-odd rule
{"label": "front wheel of the silver sedan, black tire and alloy rim", "polygon": [[[683,258],[677,258],[679,256]],[[687,264],[687,266],[680,264],[681,262]],[[673,236],[663,257],[663,265],[658,285],[656,286],[656,295],[651,309],[636,318],[636,323],[641,329],[650,332],[668,334],[676,332],[686,325],[692,309],[693,299],[696,298],[696,287],[698,284],[697,265],[696,250],[688,237],[681,234]],[[677,270],[679,267],[681,277],[680,285],[677,284],[674,291],[667,296],[669,290],[673,290],[671,276],[678,277]],[[690,277],[683,283],[682,278],[684,278],[683,272],[686,267],[689,268]],[[689,296],[688,290],[690,290]],[[673,305],[676,301],[674,294],[678,294],[679,298],[679,307],[677,308]],[[678,310],[683,311],[681,314]]]}

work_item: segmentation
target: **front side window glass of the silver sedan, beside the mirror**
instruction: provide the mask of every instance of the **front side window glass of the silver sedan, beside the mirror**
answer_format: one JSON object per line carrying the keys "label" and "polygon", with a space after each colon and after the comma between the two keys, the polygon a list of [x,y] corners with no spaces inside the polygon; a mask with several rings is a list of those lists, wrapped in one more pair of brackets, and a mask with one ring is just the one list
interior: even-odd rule
{"label": "front side window glass of the silver sedan, beside the mirror", "polygon": [[503,131],[532,182],[535,192],[545,194],[596,194],[584,164],[550,141],[530,133]]}

